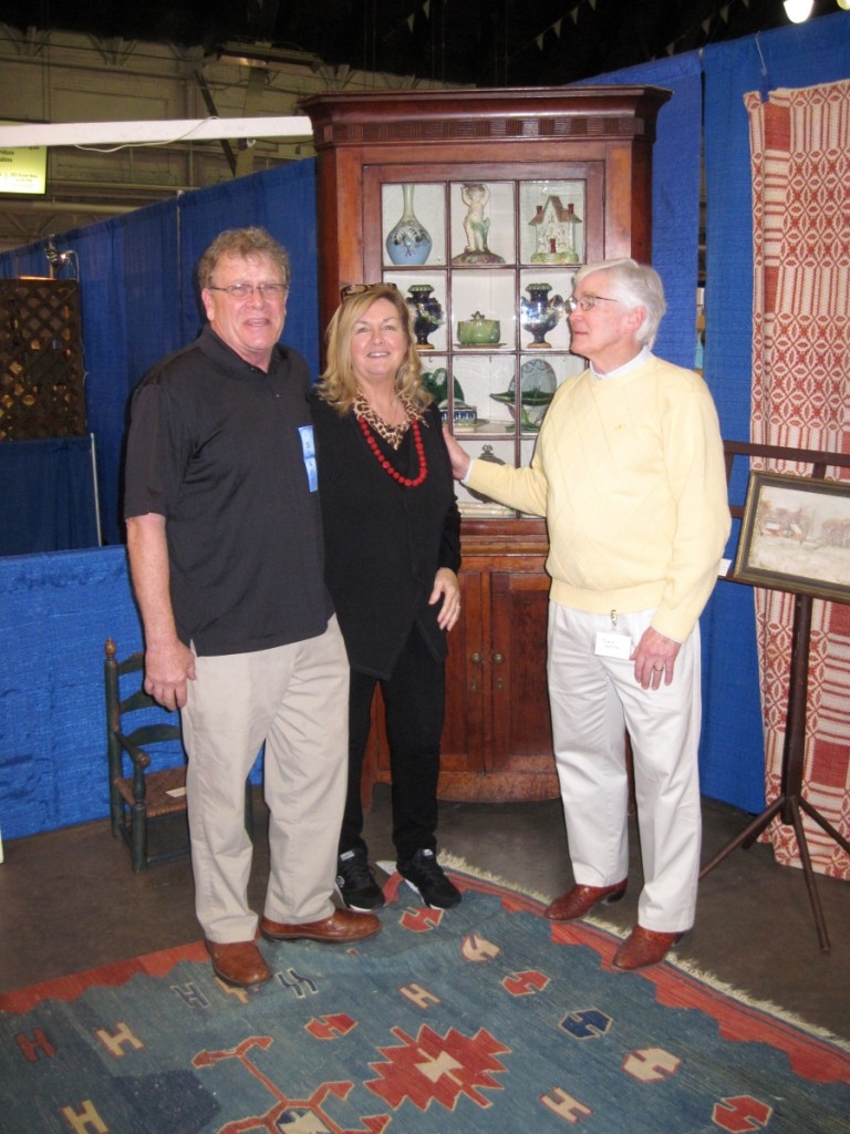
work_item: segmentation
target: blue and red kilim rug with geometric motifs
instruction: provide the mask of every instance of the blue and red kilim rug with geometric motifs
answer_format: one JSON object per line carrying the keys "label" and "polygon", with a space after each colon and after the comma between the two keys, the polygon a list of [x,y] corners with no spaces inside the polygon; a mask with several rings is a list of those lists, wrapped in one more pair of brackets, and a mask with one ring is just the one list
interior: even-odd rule
{"label": "blue and red kilim rug with geometric motifs", "polygon": [[850,1049],[452,870],[394,875],[357,948],[264,945],[233,991],[201,945],[0,996],[3,1134],[847,1134]]}

